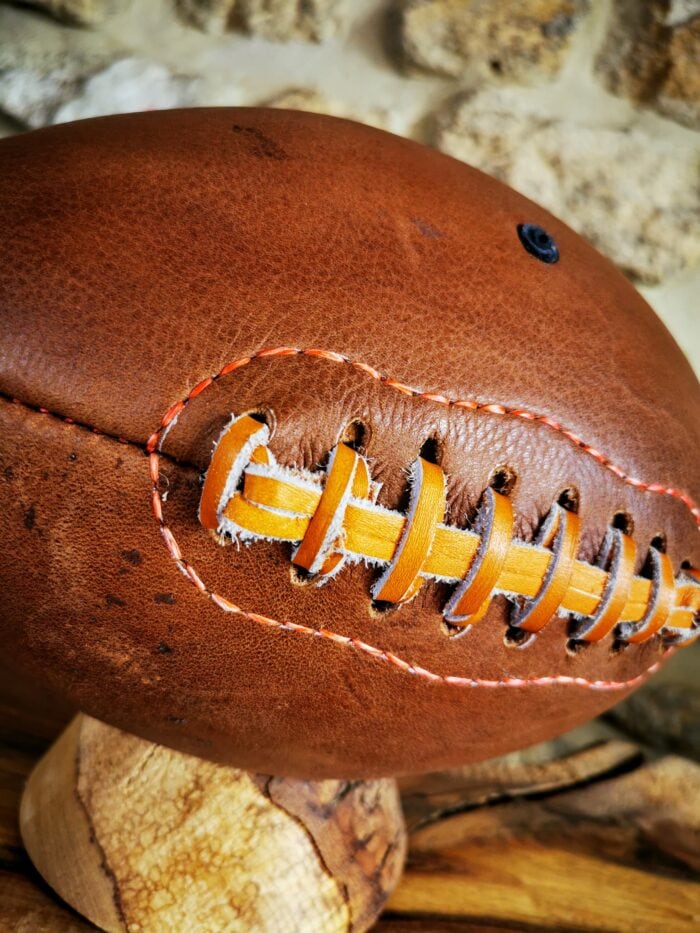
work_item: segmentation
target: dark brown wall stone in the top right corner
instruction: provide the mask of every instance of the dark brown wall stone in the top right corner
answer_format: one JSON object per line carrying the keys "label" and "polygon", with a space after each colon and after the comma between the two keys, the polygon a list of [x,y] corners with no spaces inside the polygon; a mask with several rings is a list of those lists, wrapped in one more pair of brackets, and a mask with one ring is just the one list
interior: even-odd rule
{"label": "dark brown wall stone in the top right corner", "polygon": [[700,4],[618,0],[596,71],[613,94],[700,127]]}

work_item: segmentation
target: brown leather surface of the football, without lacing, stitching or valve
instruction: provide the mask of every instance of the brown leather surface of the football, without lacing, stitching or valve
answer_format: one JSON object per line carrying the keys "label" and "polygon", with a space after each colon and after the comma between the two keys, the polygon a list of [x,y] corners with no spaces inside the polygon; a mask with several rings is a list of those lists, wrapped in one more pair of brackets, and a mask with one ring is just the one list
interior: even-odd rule
{"label": "brown leather surface of the football, without lacing, stitching or valve", "polygon": [[[523,248],[523,223],[554,237],[559,262]],[[430,683],[230,616],[178,572],[152,514],[145,448],[164,413],[229,361],[280,346],[544,415],[629,476],[697,502],[698,383],[633,287],[564,224],[375,129],[214,109],[2,140],[0,226],[0,632],[18,669],[146,738],[307,778],[485,758],[625,695]],[[659,639],[570,654],[560,618],[526,647],[507,644],[502,597],[455,637],[444,584],[376,613],[371,567],[302,586],[287,545],[221,546],[198,521],[201,475],[231,414],[251,411],[268,418],[275,458],[310,470],[361,422],[391,508],[405,509],[406,469],[433,439],[455,524],[469,526],[507,466],[522,539],[574,487],[581,559],[595,559],[622,511],[636,572],[659,535],[675,573],[700,564],[683,501],[623,481],[546,424],[445,407],[319,357],[258,356],[190,400],[160,460],[183,552],[247,612],[332,629],[441,675],[623,681],[662,658]]]}

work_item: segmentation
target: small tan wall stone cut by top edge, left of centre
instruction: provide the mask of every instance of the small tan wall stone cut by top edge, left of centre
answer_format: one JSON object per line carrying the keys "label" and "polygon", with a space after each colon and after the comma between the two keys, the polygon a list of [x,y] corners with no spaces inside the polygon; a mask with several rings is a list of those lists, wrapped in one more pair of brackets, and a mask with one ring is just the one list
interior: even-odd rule
{"label": "small tan wall stone cut by top edge, left of centre", "polygon": [[320,42],[338,30],[342,6],[342,0],[237,0],[235,18],[251,35],[263,39]]}

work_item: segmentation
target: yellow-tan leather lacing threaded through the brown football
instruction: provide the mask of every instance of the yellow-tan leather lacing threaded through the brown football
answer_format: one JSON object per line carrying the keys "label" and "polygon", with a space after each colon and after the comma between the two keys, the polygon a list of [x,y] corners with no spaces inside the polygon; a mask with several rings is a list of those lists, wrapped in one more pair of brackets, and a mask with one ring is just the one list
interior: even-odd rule
{"label": "yellow-tan leather lacing threaded through the brown football", "polygon": [[372,597],[408,602],[428,579],[457,584],[446,619],[474,625],[493,597],[515,603],[511,624],[540,631],[556,615],[571,614],[575,638],[598,641],[614,632],[639,643],[660,634],[674,644],[700,635],[698,573],[674,579],[670,559],[650,549],[648,576],[635,576],[636,547],[611,528],[595,565],[577,559],[578,516],[553,505],[535,542],[513,537],[507,496],[484,493],[474,530],[444,523],[445,476],[418,457],[403,515],[376,503],[378,487],[367,461],[339,443],[324,472],[279,465],[269,428],[249,415],[233,418],[216,445],[200,504],[202,524],[240,540],[295,545],[294,564],[322,583],[346,561],[381,568]]}

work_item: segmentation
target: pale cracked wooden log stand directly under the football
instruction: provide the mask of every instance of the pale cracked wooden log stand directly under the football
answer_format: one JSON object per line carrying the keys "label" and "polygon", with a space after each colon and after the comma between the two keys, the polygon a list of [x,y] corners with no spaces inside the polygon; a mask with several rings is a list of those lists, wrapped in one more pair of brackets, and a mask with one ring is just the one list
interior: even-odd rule
{"label": "pale cracked wooden log stand directly under the football", "polygon": [[34,865],[107,931],[361,931],[403,868],[394,781],[296,781],[78,715],[20,810]]}

